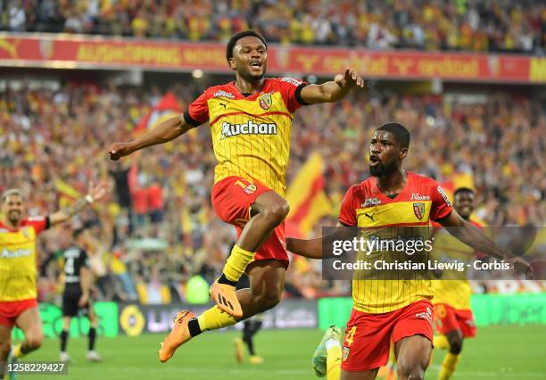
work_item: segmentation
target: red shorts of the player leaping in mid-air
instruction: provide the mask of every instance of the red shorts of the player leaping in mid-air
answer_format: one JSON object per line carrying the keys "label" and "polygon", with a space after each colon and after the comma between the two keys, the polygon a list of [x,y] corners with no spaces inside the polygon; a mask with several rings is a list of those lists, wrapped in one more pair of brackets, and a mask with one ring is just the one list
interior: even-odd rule
{"label": "red shorts of the player leaping in mid-air", "polygon": [[[261,194],[272,191],[260,182],[241,177],[227,177],[212,186],[212,208],[219,219],[236,227],[237,238],[250,220],[251,206]],[[256,252],[254,260],[282,260],[288,268],[286,252],[285,222],[281,223],[269,239]]]}

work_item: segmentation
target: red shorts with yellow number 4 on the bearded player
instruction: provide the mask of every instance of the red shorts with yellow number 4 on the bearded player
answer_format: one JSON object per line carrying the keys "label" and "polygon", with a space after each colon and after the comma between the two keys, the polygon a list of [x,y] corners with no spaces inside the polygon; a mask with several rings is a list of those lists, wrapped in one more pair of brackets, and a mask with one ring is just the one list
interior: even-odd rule
{"label": "red shorts with yellow number 4 on the bearded player", "polygon": [[368,371],[389,361],[391,342],[423,335],[433,341],[433,310],[428,300],[399,310],[368,314],[352,310],[343,341],[343,371]]}

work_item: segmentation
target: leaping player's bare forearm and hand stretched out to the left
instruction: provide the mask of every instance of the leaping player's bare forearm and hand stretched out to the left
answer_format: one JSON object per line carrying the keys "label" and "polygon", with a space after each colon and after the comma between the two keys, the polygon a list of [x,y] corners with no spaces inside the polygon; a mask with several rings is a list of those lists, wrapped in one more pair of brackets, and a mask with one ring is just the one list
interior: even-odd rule
{"label": "leaping player's bare forearm and hand stretched out to the left", "polygon": [[142,148],[167,143],[178,136],[184,135],[191,128],[194,128],[194,126],[186,122],[183,114],[172,117],[161,122],[158,126],[145,132],[143,135],[138,136],[133,141],[129,141],[128,143],[113,143],[108,150],[110,159],[118,161],[121,157]]}

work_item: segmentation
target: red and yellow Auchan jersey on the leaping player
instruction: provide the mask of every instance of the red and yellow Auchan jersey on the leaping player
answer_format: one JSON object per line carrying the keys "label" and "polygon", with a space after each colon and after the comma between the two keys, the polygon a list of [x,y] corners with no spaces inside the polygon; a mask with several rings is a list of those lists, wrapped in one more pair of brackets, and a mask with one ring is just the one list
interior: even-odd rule
{"label": "red and yellow Auchan jersey on the leaping player", "polygon": [[307,83],[266,78],[261,92],[244,96],[235,82],[208,88],[184,113],[197,126],[209,121],[218,164],[214,183],[237,176],[259,181],[285,196],[294,112],[303,104]]}

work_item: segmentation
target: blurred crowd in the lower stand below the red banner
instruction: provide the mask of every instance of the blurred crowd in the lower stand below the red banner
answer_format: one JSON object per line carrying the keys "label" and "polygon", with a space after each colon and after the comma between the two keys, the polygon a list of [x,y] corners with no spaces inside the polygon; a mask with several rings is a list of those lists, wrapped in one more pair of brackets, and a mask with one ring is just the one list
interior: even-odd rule
{"label": "blurred crowd in the lower stand below the red banner", "polygon": [[[58,257],[70,228],[85,226],[103,300],[151,303],[186,300],[195,276],[211,283],[236,236],[211,210],[215,158],[210,128],[119,162],[108,146],[132,138],[139,120],[161,99],[157,87],[66,84],[59,90],[5,89],[0,93],[0,191],[21,187],[30,215],[46,214],[86,194],[90,182],[109,180],[112,196],[55,227],[39,240],[40,297],[58,291]],[[183,108],[202,88],[173,84]],[[442,95],[352,94],[335,104],[302,107],[294,118],[287,183],[310,152],[326,162],[326,193],[335,213],[345,190],[368,177],[367,149],[374,128],[396,120],[411,131],[406,168],[443,182],[474,178],[476,216],[486,225],[543,225],[546,220],[546,114],[538,100],[509,93],[477,103]],[[319,220],[335,225],[335,216]],[[346,294],[348,284],[321,280],[318,262],[294,260],[286,296]]]}

